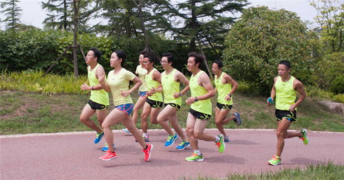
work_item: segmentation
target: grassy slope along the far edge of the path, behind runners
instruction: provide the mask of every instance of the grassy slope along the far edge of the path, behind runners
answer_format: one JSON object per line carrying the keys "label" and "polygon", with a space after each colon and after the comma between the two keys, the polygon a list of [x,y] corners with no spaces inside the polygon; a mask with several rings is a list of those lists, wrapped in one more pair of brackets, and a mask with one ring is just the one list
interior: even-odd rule
{"label": "grassy slope along the far edge of the path, behind runners", "polygon": [[[133,94],[131,97],[136,102],[137,95]],[[188,95],[183,96],[182,108],[178,111],[178,120],[183,128],[186,126],[186,116],[189,111],[189,106],[185,104],[186,97]],[[44,95],[0,91],[0,135],[90,131],[87,126],[79,122],[79,115],[88,99],[89,95]],[[111,97],[110,101],[112,104]],[[212,102],[214,109],[215,98]],[[109,112],[112,109],[111,107]],[[237,127],[235,123],[230,122],[225,128],[276,128],[275,107],[267,106],[265,97],[235,94],[231,113],[235,111],[241,115],[242,126]],[[207,128],[216,128],[213,117],[214,112]],[[344,117],[324,111],[316,103],[316,99],[306,98],[298,107],[297,117],[297,122],[294,122],[290,129],[308,128],[310,131],[344,132]],[[92,116],[92,120],[96,121],[96,115]],[[136,126],[140,128],[140,123]],[[112,128],[120,129],[124,126],[117,124]],[[161,127],[149,124],[149,128]]]}

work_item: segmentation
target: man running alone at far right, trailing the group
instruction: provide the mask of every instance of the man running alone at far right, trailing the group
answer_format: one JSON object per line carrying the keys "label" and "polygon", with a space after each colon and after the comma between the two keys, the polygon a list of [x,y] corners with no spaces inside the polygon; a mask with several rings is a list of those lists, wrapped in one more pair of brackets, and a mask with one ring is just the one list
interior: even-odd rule
{"label": "man running alone at far right, trailing the group", "polygon": [[[299,137],[303,140],[303,144],[308,144],[307,130],[305,128],[299,132],[288,131],[292,122],[297,120],[297,106],[306,96],[302,83],[290,75],[290,70],[291,66],[287,60],[279,62],[279,76],[274,79],[271,95],[267,101],[269,105],[272,104],[276,95],[277,153],[268,161],[268,164],[272,166],[281,164],[284,139]],[[297,102],[295,102],[296,91],[301,95]]]}

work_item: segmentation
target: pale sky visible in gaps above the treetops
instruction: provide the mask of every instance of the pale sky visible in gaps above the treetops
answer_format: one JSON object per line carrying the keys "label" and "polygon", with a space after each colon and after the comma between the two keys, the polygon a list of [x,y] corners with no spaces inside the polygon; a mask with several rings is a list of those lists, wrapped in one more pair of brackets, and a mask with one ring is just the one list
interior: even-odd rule
{"label": "pale sky visible in gaps above the treetops", "polygon": [[[21,0],[18,4],[23,10],[21,14],[21,23],[26,25],[34,25],[36,27],[43,27],[42,22],[47,17],[47,12],[41,9],[42,0]],[[251,4],[249,6],[265,5],[272,10],[279,10],[281,8],[296,12],[303,21],[314,22],[314,17],[317,15],[316,10],[310,5],[309,0],[248,0]],[[0,14],[0,19],[6,17]],[[97,20],[98,22],[99,20]],[[92,23],[92,21],[90,22]],[[313,25],[310,25],[313,27]],[[5,29],[5,23],[1,22],[1,30]]]}

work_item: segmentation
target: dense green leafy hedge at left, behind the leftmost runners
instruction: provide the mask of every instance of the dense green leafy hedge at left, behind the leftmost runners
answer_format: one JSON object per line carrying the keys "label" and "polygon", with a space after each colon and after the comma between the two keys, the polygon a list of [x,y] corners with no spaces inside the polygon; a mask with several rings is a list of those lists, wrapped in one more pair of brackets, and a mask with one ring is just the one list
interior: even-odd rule
{"label": "dense green leafy hedge at left, behind the leftmost runners", "polygon": [[[80,34],[79,43],[86,54],[91,47],[97,47],[103,52],[103,57],[98,61],[109,71],[109,56],[118,46],[105,36],[97,37],[92,34]],[[27,69],[47,70],[69,45],[73,43],[72,32],[63,30],[32,29],[21,32],[0,32],[0,71],[24,71]],[[57,74],[73,71],[72,50],[61,58],[53,68]],[[78,51],[78,71],[80,74],[87,72],[85,60]],[[132,67],[133,68],[133,67]]]}

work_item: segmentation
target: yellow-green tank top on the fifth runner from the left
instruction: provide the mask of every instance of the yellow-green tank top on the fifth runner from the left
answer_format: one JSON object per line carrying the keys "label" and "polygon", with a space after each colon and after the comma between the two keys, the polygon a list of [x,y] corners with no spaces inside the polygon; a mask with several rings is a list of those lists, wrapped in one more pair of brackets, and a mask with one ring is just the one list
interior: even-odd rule
{"label": "yellow-green tank top on the fifth runner from the left", "polygon": [[161,84],[162,88],[164,89],[164,103],[174,103],[181,106],[182,97],[173,97],[173,93],[180,92],[180,82],[176,82],[174,79],[176,71],[177,69],[173,69],[170,74],[166,74],[166,71],[164,71],[161,74]]}

